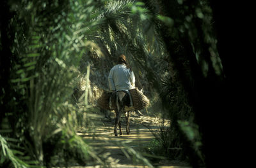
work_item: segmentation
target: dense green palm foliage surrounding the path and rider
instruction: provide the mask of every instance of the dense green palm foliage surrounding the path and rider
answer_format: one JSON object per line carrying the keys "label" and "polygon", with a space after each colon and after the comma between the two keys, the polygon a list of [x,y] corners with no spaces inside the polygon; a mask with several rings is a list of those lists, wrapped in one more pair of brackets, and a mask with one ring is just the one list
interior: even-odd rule
{"label": "dense green palm foliage surrounding the path and rider", "polygon": [[171,120],[156,135],[158,149],[148,152],[211,164],[203,112],[214,106],[225,75],[209,1],[2,4],[0,165],[107,166],[76,129],[90,124],[86,113],[108,90],[108,72],[120,53],[136,87],[150,98],[147,114]]}

